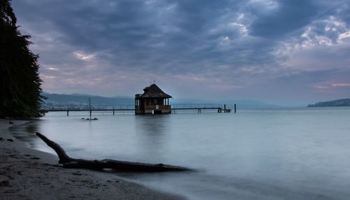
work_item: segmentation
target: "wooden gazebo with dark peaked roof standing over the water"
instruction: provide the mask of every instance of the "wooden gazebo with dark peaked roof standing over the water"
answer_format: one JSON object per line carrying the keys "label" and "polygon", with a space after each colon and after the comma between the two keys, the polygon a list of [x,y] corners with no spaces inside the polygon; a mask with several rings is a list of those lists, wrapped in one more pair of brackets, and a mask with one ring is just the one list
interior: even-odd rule
{"label": "wooden gazebo with dark peaked roof standing over the water", "polygon": [[144,89],[144,94],[135,94],[135,114],[170,114],[169,94],[152,84]]}

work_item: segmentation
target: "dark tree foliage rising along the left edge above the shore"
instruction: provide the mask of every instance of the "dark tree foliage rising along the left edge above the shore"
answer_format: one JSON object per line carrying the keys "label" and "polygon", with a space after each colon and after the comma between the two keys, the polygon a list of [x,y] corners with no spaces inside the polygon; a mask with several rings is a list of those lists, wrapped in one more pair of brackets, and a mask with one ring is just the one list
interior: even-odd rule
{"label": "dark tree foliage rising along the left edge above the shore", "polygon": [[0,0],[0,117],[40,117],[41,79],[30,36],[18,31],[9,0]]}

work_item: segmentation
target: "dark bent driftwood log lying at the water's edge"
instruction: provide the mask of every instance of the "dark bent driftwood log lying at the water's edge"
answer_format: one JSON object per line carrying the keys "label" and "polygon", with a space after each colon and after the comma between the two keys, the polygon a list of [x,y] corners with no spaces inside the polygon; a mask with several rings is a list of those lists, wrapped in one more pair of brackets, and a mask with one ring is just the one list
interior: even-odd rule
{"label": "dark bent driftwood log lying at the water's edge", "polygon": [[126,162],[115,159],[102,159],[102,160],[87,160],[87,159],[75,159],[66,155],[64,149],[54,141],[50,141],[43,134],[36,132],[36,136],[41,138],[50,148],[55,150],[59,157],[59,164],[63,164],[65,168],[76,169],[115,169],[118,171],[139,171],[139,172],[161,172],[161,171],[190,171],[186,167],[174,166],[169,164],[149,164],[142,162]]}

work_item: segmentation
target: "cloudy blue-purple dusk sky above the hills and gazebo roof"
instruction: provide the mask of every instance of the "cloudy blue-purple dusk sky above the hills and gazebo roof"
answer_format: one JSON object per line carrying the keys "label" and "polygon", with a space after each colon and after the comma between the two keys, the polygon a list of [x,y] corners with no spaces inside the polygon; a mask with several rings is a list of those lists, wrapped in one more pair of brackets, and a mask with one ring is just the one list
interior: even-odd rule
{"label": "cloudy blue-purple dusk sky above the hills and gazebo roof", "polygon": [[12,1],[43,90],[304,105],[350,98],[350,0]]}

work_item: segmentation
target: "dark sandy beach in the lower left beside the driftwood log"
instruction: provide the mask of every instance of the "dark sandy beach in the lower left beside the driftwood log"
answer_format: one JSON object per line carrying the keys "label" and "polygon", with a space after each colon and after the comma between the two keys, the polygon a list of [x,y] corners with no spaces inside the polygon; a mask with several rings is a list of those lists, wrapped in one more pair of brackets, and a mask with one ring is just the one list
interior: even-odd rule
{"label": "dark sandy beach in the lower left beside the driftwood log", "polygon": [[29,148],[10,134],[28,120],[0,119],[0,194],[2,199],[185,199],[123,180],[116,173],[65,169],[58,158]]}

